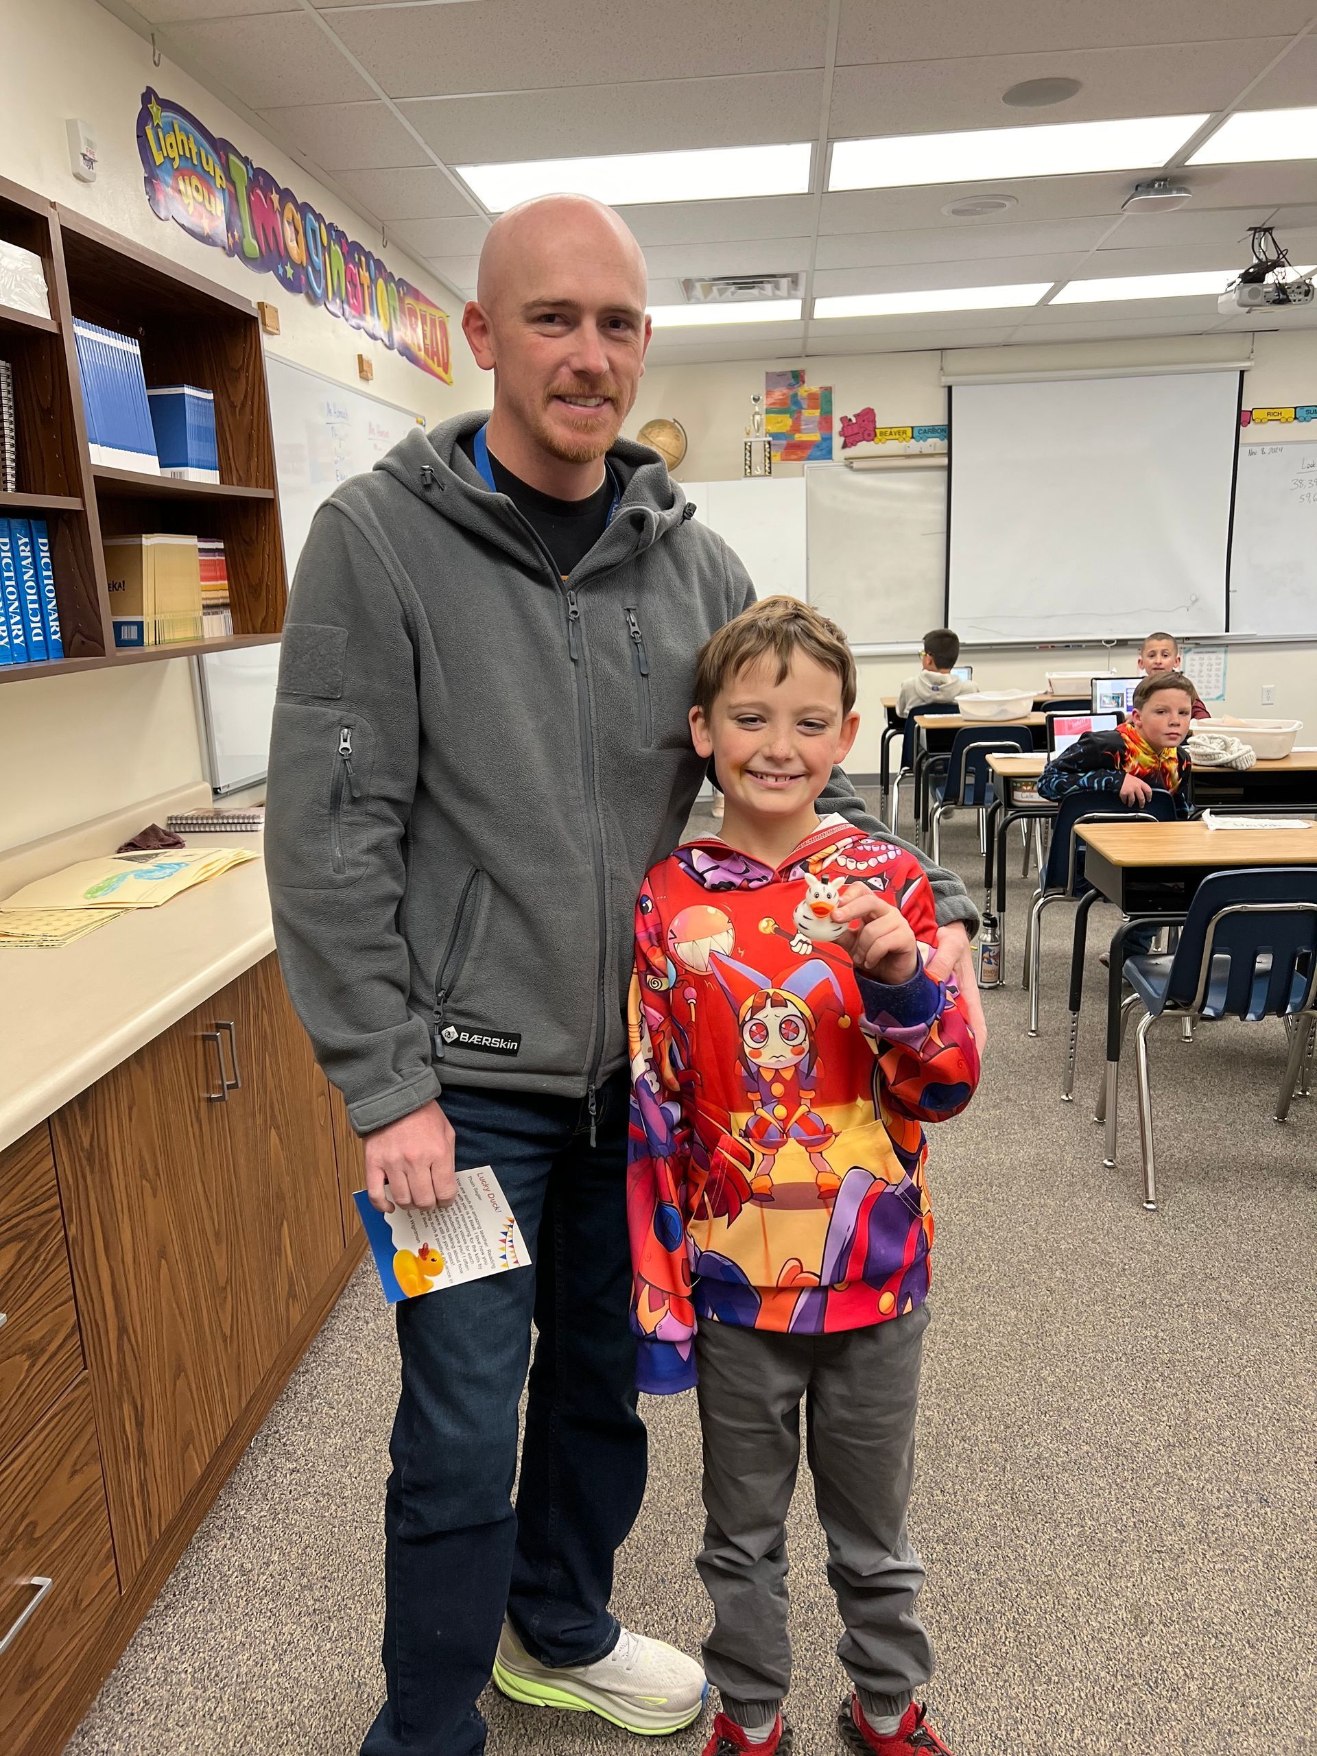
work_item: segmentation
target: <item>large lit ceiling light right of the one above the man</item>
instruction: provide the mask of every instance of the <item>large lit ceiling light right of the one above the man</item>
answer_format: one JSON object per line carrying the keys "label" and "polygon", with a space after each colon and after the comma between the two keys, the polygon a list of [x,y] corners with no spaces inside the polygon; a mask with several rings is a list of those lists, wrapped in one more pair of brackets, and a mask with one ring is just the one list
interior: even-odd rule
{"label": "large lit ceiling light right of the one above the man", "polygon": [[1154,170],[1206,116],[1136,116],[1129,121],[1057,121],[973,133],[906,133],[838,140],[829,190],[890,190],[913,183],[985,183],[989,177],[1062,177],[1083,170]]}

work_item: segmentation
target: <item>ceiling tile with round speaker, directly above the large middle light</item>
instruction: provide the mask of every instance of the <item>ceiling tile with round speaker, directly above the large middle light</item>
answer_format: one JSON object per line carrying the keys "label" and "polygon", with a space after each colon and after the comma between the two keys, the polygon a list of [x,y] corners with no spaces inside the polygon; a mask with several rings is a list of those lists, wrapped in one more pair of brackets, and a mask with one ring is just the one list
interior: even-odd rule
{"label": "ceiling tile with round speaker, directly above the large middle light", "polygon": [[[943,51],[952,40],[943,39]],[[1001,95],[1026,79],[1055,74],[1054,54],[839,67],[829,132],[845,139],[1217,111],[1231,104],[1284,46],[1284,37],[1259,37],[1250,42],[1087,49],[1068,54],[1064,65],[1064,74],[1080,81],[1080,91],[1047,109],[1011,109]]]}

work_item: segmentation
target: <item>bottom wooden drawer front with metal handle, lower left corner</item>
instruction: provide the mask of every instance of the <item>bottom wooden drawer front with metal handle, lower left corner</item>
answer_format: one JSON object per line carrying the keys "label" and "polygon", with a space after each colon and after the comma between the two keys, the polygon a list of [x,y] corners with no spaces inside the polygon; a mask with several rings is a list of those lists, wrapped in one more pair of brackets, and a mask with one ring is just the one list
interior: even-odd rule
{"label": "bottom wooden drawer front with metal handle, lower left corner", "polygon": [[86,1377],[0,1457],[0,1749],[39,1721],[119,1601]]}

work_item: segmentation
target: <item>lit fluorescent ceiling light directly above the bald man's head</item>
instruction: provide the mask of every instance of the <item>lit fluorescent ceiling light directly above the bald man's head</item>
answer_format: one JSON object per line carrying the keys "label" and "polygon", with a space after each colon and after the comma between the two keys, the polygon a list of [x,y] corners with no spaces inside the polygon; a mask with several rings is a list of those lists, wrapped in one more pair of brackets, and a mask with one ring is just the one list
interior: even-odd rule
{"label": "lit fluorescent ceiling light directly above the bald man's head", "polygon": [[536,195],[594,195],[609,207],[641,202],[720,202],[745,195],[806,195],[811,142],[711,146],[680,153],[609,153],[602,158],[530,158],[511,165],[457,165],[490,212]]}

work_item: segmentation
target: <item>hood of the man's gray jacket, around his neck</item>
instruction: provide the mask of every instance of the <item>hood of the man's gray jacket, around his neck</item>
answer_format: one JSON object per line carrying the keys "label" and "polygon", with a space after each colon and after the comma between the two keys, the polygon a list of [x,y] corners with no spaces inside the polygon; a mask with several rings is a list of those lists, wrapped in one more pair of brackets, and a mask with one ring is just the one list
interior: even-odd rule
{"label": "hood of the man's gray jacket, around his neck", "polygon": [[[488,413],[472,409],[441,421],[430,432],[414,427],[376,469],[400,481],[441,518],[485,537],[516,560],[543,569],[544,553],[522,515],[507,495],[490,492],[462,450],[460,441],[469,439],[486,420]],[[574,579],[644,553],[695,511],[657,451],[618,439],[608,462],[622,486],[622,497],[613,523],[581,562]]]}

